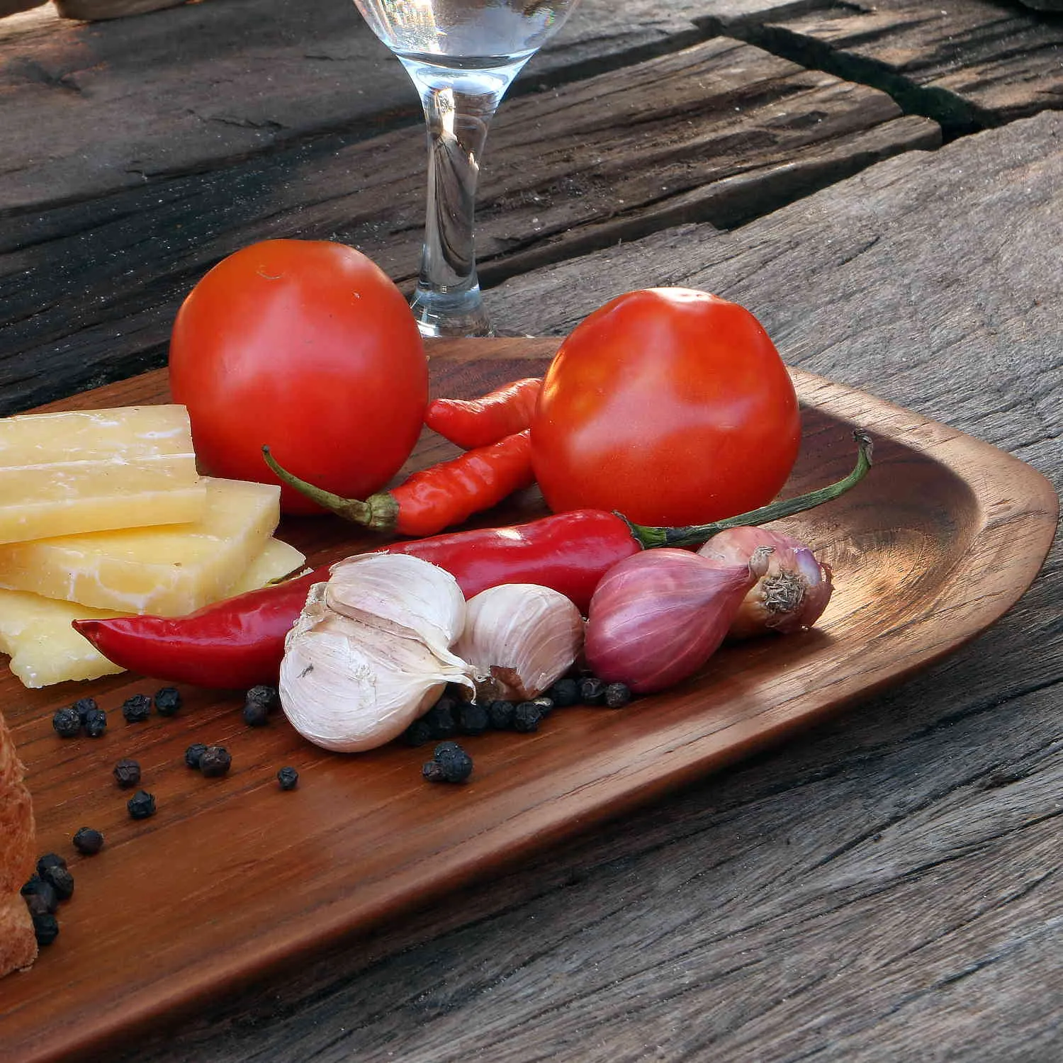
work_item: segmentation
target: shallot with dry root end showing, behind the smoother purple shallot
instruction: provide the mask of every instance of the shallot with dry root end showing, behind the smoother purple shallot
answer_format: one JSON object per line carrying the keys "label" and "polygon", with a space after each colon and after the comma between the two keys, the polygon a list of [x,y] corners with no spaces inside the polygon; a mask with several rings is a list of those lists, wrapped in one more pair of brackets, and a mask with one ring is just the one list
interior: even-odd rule
{"label": "shallot with dry root end showing, behind the smoother purple shallot", "polygon": [[758,546],[772,546],[767,571],[746,593],[729,639],[769,631],[787,635],[811,627],[833,592],[830,566],[817,560],[799,539],[762,527],[735,527],[713,536],[697,553],[722,566],[741,564]]}

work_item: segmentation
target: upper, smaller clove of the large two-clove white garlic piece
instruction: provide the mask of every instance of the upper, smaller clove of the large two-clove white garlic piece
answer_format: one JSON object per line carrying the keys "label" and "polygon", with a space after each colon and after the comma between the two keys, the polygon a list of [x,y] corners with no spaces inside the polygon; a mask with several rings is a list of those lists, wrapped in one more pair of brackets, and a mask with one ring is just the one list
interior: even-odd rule
{"label": "upper, smaller clove of the large two-clove white garlic piece", "polygon": [[465,627],[466,601],[445,569],[407,554],[358,554],[332,567],[325,603],[353,620],[417,636],[441,657]]}

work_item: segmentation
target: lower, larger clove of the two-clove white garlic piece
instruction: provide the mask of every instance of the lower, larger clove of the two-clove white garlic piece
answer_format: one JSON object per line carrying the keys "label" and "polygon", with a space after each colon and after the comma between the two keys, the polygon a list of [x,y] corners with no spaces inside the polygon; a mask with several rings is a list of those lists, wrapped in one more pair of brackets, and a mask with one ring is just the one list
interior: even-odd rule
{"label": "lower, larger clove of the two-clove white garlic piece", "polygon": [[316,745],[372,749],[398,738],[448,682],[472,688],[468,668],[448,656],[452,660],[441,659],[418,638],[335,612],[327,585],[315,584],[285,640],[281,707]]}

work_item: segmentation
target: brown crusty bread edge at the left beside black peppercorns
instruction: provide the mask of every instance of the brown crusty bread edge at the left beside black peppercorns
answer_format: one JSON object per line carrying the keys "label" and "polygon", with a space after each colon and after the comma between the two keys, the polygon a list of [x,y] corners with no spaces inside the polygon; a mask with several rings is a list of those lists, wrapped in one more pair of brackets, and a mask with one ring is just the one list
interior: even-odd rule
{"label": "brown crusty bread edge at the left beside black peppercorns", "polygon": [[33,806],[15,753],[15,740],[0,713],[0,977],[28,967],[37,956],[33,919],[19,891],[33,874],[36,831]]}

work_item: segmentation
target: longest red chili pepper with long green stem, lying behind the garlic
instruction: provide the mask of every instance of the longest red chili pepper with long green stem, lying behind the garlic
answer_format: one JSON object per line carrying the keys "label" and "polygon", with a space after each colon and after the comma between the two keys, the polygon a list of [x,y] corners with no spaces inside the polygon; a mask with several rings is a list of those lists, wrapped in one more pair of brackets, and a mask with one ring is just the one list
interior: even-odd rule
{"label": "longest red chili pepper with long green stem, lying behind the garlic", "polygon": [[[844,479],[796,499],[713,524],[654,528],[617,513],[577,509],[529,524],[451,532],[391,543],[376,553],[410,554],[446,569],[466,597],[499,584],[540,584],[586,611],[598,579],[618,561],[654,546],[689,546],[725,527],[792,517],[847,491],[871,468],[871,440],[856,433],[860,454]],[[187,617],[75,620],[73,626],[108,660],[156,679],[239,689],[275,682],[284,639],[310,586],[328,578],[328,566],[305,576],[216,602]]]}

